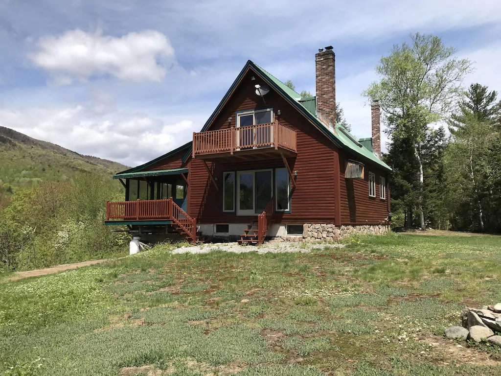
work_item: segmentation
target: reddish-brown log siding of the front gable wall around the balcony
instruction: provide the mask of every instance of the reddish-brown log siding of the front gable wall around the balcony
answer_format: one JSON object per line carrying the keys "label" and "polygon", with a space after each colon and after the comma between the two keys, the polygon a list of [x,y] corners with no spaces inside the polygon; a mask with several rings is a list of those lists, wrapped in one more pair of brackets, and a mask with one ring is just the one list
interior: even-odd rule
{"label": "reddish-brown log siding of the front gable wall around the balcony", "polygon": [[[296,187],[291,185],[291,213],[277,213],[276,223],[334,223],[335,213],[335,168],[336,146],[313,124],[289,104],[280,94],[270,90],[263,99],[255,93],[259,78],[251,81],[248,74],[215,117],[209,130],[228,128],[236,123],[236,112],[273,107],[276,119],[297,131],[298,155],[288,158],[291,170],[298,170]],[[281,115],[277,116],[277,110]],[[231,118],[231,121],[228,121]],[[238,162],[231,157],[220,162],[207,163],[217,178],[219,191],[210,182],[202,161],[189,162],[189,215],[197,218],[197,223],[248,223],[256,216],[236,216],[222,212],[222,172],[252,170],[271,167],[283,168],[282,159],[268,159]],[[236,181],[235,181],[236,183]],[[235,198],[236,201],[236,198]],[[236,204],[236,203],[235,203]]]}

